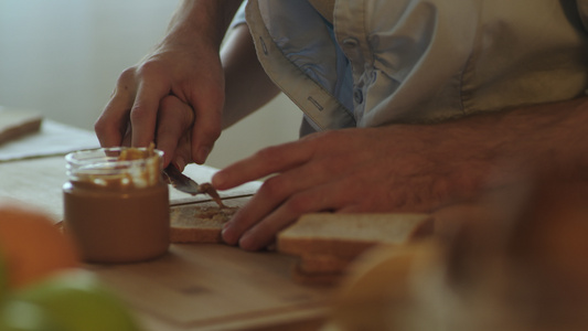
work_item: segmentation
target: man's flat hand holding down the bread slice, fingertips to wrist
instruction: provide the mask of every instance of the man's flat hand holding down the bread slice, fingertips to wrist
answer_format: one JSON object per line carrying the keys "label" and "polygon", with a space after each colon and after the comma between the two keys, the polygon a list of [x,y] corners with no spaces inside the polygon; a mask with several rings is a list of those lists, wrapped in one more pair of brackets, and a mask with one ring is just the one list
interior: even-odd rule
{"label": "man's flat hand holding down the bread slice, fingertips to wrist", "polygon": [[[244,249],[259,249],[304,213],[428,212],[456,192],[475,190],[460,178],[467,168],[460,166],[459,150],[443,146],[434,128],[327,131],[229,166],[213,178],[216,189],[275,175],[226,225],[223,238]],[[470,175],[483,175],[484,170],[473,168]]]}

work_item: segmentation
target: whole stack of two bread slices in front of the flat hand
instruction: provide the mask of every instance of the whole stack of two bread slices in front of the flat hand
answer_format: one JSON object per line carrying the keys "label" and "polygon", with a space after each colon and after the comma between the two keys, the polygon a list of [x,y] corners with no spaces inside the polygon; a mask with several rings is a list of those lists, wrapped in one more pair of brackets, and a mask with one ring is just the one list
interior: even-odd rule
{"label": "whole stack of two bread slices in front of the flat hand", "polygon": [[374,246],[406,246],[432,234],[427,214],[308,214],[278,234],[277,249],[299,256],[292,279],[333,286]]}

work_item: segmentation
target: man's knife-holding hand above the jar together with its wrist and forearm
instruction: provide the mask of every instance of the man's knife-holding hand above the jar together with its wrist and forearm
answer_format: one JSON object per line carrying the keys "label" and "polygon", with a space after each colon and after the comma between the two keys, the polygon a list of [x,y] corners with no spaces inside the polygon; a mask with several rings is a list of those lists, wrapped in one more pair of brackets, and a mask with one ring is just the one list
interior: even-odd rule
{"label": "man's knife-holding hand above the jar together with its wrist and forearm", "polygon": [[101,146],[156,141],[164,166],[173,160],[180,169],[206,160],[221,134],[220,44],[239,2],[184,1],[165,39],[120,75],[95,125]]}

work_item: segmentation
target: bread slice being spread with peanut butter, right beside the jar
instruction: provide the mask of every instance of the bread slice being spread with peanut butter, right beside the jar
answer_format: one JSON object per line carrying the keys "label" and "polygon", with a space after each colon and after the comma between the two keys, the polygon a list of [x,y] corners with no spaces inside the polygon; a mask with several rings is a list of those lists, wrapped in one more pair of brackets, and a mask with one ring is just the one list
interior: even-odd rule
{"label": "bread slice being spread with peanut butter, right beside the jar", "polygon": [[221,232],[226,222],[248,197],[223,200],[225,207],[215,202],[170,207],[170,241],[172,243],[223,243]]}

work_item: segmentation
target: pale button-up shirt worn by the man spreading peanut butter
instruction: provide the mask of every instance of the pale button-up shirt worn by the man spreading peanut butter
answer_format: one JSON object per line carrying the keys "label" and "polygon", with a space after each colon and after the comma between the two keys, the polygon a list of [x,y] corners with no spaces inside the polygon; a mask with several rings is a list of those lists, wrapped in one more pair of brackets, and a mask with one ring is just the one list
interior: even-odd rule
{"label": "pale button-up shirt worn by the man spreading peanut butter", "polygon": [[269,77],[325,130],[579,97],[586,3],[336,1],[330,24],[304,0],[249,0],[246,18]]}

